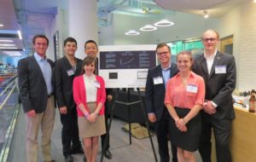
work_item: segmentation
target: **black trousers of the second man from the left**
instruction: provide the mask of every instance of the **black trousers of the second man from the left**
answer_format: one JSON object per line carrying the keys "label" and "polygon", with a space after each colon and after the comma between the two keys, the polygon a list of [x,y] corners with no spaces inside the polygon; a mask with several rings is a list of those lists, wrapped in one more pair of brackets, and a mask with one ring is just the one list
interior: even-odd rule
{"label": "black trousers of the second man from the left", "polygon": [[67,110],[67,114],[61,114],[61,142],[64,156],[71,154],[72,149],[81,147],[79,140],[78,113],[76,107]]}

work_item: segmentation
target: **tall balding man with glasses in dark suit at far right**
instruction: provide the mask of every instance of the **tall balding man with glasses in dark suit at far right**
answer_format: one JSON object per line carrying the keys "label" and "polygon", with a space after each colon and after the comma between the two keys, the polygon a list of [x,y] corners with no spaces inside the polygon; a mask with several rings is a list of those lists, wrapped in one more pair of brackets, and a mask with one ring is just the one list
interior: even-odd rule
{"label": "tall balding man with glasses in dark suit at far right", "polygon": [[218,32],[207,30],[202,36],[205,52],[195,59],[194,71],[206,84],[206,101],[201,113],[202,132],[199,152],[211,161],[211,133],[215,136],[218,162],[230,162],[230,128],[235,118],[232,92],[236,88],[236,62],[233,55],[217,50]]}

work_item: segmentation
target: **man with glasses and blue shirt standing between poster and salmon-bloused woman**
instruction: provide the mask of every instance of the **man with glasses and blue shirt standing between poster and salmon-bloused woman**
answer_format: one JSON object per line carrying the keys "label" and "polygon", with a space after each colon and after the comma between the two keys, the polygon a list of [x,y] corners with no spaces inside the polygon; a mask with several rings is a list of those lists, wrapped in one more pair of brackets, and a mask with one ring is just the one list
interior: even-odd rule
{"label": "man with glasses and blue shirt standing between poster and salmon-bloused woman", "polygon": [[[166,43],[156,47],[156,54],[160,65],[148,69],[145,102],[148,120],[155,123],[155,132],[159,147],[160,161],[169,162],[168,123],[171,116],[165,107],[166,82],[178,72],[177,65],[171,62],[171,49]],[[170,132],[172,133],[172,132]],[[172,161],[177,161],[177,148],[172,145]]]}

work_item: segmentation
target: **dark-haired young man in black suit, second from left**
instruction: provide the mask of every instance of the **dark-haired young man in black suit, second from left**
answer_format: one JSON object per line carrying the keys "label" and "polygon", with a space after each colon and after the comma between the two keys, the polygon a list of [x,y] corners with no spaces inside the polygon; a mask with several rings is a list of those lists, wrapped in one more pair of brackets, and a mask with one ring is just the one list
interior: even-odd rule
{"label": "dark-haired young man in black suit, second from left", "polygon": [[55,96],[61,113],[61,141],[65,162],[72,162],[72,153],[84,153],[79,141],[79,125],[76,104],[73,101],[73,78],[79,76],[82,60],[75,57],[77,41],[66,38],[65,56],[55,61]]}

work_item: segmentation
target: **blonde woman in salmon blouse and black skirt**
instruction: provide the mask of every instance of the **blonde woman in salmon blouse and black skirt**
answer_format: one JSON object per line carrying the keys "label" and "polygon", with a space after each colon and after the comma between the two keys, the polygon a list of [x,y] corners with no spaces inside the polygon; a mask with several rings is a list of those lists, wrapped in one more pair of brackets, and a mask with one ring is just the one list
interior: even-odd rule
{"label": "blonde woman in salmon blouse and black skirt", "polygon": [[201,136],[200,111],[204,104],[204,79],[191,71],[193,58],[189,51],[177,55],[179,72],[166,85],[165,104],[172,116],[171,142],[177,146],[179,162],[195,161],[194,152]]}

